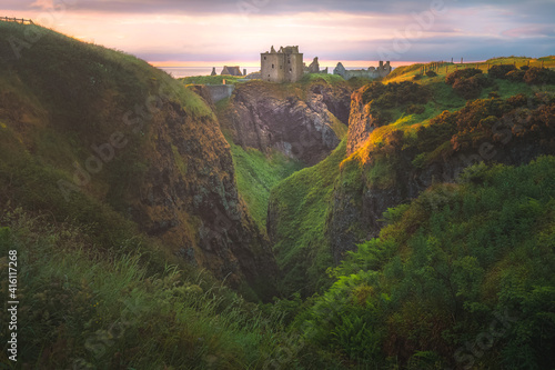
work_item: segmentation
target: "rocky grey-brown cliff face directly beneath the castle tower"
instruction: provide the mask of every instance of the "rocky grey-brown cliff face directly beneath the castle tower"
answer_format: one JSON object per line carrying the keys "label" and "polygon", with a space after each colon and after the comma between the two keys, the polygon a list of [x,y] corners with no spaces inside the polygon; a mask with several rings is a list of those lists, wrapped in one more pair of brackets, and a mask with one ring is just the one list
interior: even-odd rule
{"label": "rocky grey-brown cliff face directly beneath the castle tower", "polygon": [[262,152],[276,149],[312,166],[345,133],[350,97],[346,83],[284,87],[253,81],[235,89],[223,126],[236,144]]}

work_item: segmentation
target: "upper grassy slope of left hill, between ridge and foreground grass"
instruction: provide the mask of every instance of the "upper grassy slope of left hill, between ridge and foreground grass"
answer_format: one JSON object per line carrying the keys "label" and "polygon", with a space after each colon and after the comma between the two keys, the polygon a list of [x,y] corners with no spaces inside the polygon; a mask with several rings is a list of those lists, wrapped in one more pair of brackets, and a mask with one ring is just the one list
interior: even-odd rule
{"label": "upper grassy slope of left hill, between ridge and foreground grass", "polygon": [[[161,88],[195,119],[213,113],[196,94],[135,57],[40,27],[0,22],[1,39],[24,40],[29,30],[39,41],[22,49],[22,58],[2,43],[2,203],[11,199],[12,206],[90,224],[99,242],[118,243],[118,234],[125,238],[137,227],[114,210],[125,212],[125,200],[138,197],[135,183],[149,164],[144,153],[153,150],[155,137],[148,123],[141,130],[123,123],[124,113],[144,109],[147,97]],[[117,131],[128,144],[65,201],[58,181],[72,182],[75,166],[92,154],[90,146],[108,142]]]}

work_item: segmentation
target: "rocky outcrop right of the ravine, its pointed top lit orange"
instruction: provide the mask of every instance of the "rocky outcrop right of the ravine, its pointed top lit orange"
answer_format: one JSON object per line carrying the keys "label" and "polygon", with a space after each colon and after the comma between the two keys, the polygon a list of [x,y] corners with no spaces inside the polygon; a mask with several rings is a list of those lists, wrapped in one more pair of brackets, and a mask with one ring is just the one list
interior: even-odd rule
{"label": "rocky outcrop right of the ravine, its pointed top lit orange", "polygon": [[[351,152],[361,148],[375,129],[356,93],[353,94],[352,109],[347,142]],[[533,116],[534,112],[531,117]],[[350,163],[343,166],[337,181],[341,186],[334,190],[332,211],[326,220],[326,236],[335,262],[341,261],[346,251],[355,250],[357,243],[379,236],[385,224],[383,213],[389,208],[408,202],[433,183],[456,182],[464,169],[471,164],[484,161],[519,166],[542,154],[555,154],[553,119],[544,116],[537,120],[526,124],[544,127],[535,129],[533,126],[526,134],[523,134],[525,129],[519,124],[511,128],[512,123],[507,123],[497,129],[501,132],[497,138],[484,138],[464,149],[457,150],[460,146],[452,140],[451,147],[446,148],[442,156],[418,167],[413,164],[418,152],[415,148],[404,148],[401,131],[393,131],[385,137],[384,147],[376,148],[370,143],[360,149],[360,158],[351,159]],[[508,121],[511,122],[511,118]],[[534,120],[528,119],[526,122],[529,121]],[[537,133],[537,130],[543,130],[544,133]],[[445,138],[446,141],[448,139]],[[431,151],[434,148],[425,150]],[[369,180],[376,167],[384,170],[379,172],[377,179]],[[442,199],[436,199],[431,207],[442,207],[441,203]]]}

